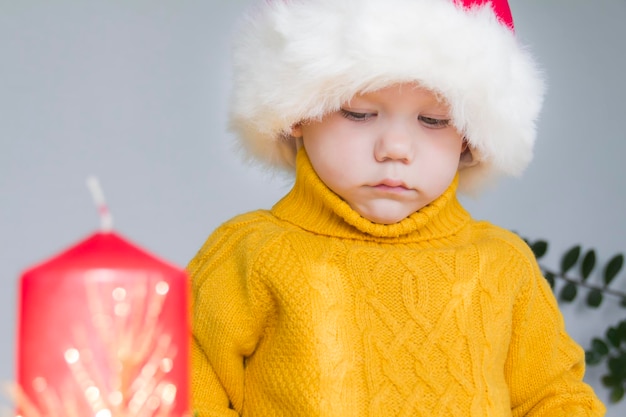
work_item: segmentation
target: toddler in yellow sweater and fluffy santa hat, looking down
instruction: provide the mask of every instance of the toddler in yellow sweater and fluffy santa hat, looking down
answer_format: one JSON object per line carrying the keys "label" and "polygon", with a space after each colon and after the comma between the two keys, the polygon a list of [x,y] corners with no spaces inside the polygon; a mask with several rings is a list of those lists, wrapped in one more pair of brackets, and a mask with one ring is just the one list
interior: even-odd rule
{"label": "toddler in yellow sweater and fluffy santa hat, looking down", "polygon": [[266,0],[231,122],[293,169],[189,264],[200,417],[601,416],[527,245],[457,200],[532,157],[505,0]]}

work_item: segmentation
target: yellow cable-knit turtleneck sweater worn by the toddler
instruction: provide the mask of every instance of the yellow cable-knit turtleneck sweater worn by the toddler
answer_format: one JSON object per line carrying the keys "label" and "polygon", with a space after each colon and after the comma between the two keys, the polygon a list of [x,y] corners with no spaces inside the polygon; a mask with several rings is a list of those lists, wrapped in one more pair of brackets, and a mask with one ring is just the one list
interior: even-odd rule
{"label": "yellow cable-knit turtleneck sweater worn by the toddler", "polygon": [[301,151],[291,192],[189,272],[200,417],[604,414],[527,245],[472,220],[456,181],[374,224]]}

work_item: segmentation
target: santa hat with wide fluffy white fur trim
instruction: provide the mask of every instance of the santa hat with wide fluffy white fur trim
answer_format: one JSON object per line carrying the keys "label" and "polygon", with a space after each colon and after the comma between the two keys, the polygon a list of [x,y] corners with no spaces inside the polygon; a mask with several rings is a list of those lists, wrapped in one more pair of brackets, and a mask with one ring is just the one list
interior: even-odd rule
{"label": "santa hat with wide fluffy white fur trim", "polygon": [[461,190],[532,159],[544,83],[506,0],[265,0],[238,28],[233,65],[230,125],[272,166],[293,167],[295,123],[404,82],[448,102],[471,150]]}

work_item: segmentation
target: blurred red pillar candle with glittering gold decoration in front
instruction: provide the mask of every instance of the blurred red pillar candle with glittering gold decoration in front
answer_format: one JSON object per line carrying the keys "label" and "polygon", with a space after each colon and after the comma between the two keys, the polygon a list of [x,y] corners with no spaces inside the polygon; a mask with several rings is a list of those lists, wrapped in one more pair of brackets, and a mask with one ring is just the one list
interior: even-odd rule
{"label": "blurred red pillar candle with glittering gold decoration in front", "polygon": [[20,278],[23,417],[182,417],[189,411],[187,276],[99,232]]}

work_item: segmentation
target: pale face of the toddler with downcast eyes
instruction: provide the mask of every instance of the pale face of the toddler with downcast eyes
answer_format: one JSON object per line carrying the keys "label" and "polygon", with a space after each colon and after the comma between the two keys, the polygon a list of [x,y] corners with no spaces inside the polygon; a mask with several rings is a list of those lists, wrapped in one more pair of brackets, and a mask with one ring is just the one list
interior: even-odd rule
{"label": "pale face of the toddler with downcast eyes", "polygon": [[322,120],[293,128],[320,179],[361,216],[399,222],[438,198],[459,166],[463,138],[448,105],[399,84],[356,95]]}

